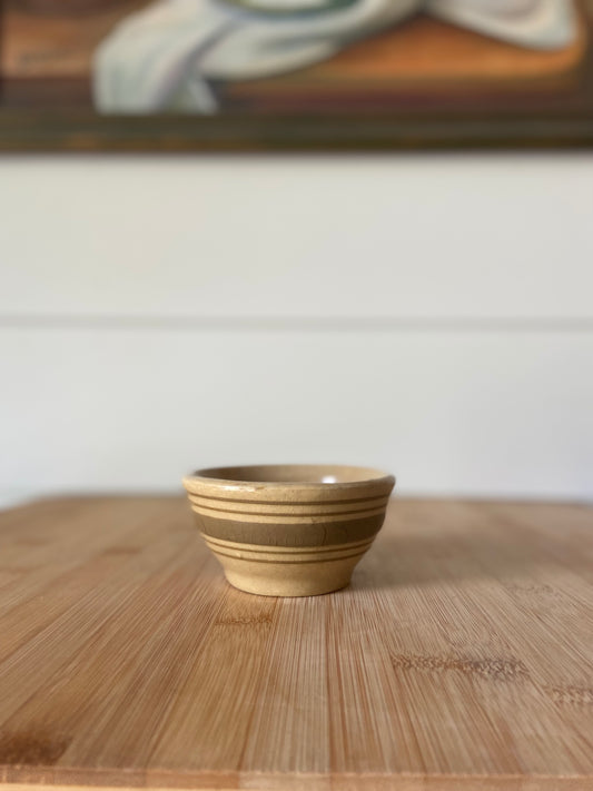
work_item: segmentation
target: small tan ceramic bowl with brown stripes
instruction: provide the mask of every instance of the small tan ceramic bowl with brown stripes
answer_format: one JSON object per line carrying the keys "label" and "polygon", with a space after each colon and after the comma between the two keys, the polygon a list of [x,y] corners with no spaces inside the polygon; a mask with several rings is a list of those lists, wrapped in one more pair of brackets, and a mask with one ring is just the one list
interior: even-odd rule
{"label": "small tan ceramic bowl with brown stripes", "polygon": [[393,475],[342,465],[199,469],[184,478],[228,582],[264,596],[347,585],[385,520]]}

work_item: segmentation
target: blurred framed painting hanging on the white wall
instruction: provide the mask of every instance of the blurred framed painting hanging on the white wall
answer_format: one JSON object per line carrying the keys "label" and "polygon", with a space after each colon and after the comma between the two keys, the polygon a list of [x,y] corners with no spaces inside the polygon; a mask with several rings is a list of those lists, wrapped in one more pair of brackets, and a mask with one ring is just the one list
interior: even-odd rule
{"label": "blurred framed painting hanging on the white wall", "polygon": [[593,142],[593,0],[3,0],[2,150]]}

